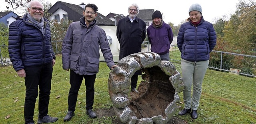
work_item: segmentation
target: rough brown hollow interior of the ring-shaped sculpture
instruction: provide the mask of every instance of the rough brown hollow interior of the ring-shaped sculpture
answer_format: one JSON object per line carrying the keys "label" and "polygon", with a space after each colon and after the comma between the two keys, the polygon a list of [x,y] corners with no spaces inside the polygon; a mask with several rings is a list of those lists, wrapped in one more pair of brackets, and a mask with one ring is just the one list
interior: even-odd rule
{"label": "rough brown hollow interior of the ring-shaped sculpture", "polygon": [[130,92],[130,105],[132,114],[138,119],[151,118],[162,115],[165,117],[165,109],[174,100],[175,89],[170,83],[170,76],[161,68],[153,66],[142,68],[142,79],[138,86],[138,92]]}

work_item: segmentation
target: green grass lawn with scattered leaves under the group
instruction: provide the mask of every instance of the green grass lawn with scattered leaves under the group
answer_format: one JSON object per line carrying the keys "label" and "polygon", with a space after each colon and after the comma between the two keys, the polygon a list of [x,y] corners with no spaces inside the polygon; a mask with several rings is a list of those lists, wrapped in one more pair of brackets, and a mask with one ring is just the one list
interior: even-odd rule
{"label": "green grass lawn with scattered leaves under the group", "polygon": [[[62,69],[61,56],[56,56],[52,77],[49,113],[58,117],[54,124],[63,124],[68,110],[69,72]],[[175,64],[180,71],[180,64]],[[108,74],[105,62],[100,62],[100,72],[95,82],[94,110],[112,107],[108,95]],[[24,124],[23,107],[25,99],[24,78],[17,76],[12,66],[0,67],[0,124]],[[140,76],[139,76],[140,77]],[[141,78],[139,79],[142,80]],[[83,81],[84,82],[84,81]],[[256,78],[207,70],[202,86],[202,96],[198,107],[198,118],[193,120],[189,114],[174,116],[186,120],[188,124],[256,124]],[[183,94],[179,93],[183,103]],[[60,96],[58,99],[56,97]],[[78,102],[80,104],[78,104]],[[113,117],[91,119],[85,114],[85,85],[82,83],[78,93],[76,115],[65,124],[113,124]],[[8,119],[6,116],[10,115]],[[34,112],[36,122],[38,102]]]}

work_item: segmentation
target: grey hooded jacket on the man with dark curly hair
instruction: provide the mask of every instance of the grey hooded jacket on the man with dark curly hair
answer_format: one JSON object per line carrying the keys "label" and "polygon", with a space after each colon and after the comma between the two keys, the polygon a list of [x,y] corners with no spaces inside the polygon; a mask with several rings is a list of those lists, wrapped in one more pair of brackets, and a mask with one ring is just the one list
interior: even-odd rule
{"label": "grey hooded jacket on the man with dark curly hair", "polygon": [[80,75],[99,72],[100,49],[107,66],[115,64],[105,31],[96,25],[96,20],[86,26],[84,17],[69,25],[62,44],[63,69],[73,70]]}

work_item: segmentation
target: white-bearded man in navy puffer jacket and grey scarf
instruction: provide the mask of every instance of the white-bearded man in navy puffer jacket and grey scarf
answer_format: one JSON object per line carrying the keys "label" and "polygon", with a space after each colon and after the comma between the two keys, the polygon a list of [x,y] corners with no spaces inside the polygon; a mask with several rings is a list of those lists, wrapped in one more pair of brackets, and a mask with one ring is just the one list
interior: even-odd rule
{"label": "white-bearded man in navy puffer jacket and grey scarf", "polygon": [[38,0],[33,0],[28,4],[28,14],[17,17],[17,20],[9,26],[10,60],[18,76],[25,78],[25,124],[34,124],[38,86],[40,93],[37,123],[50,123],[58,120],[48,115],[55,55],[52,50],[50,25],[43,15],[43,4]]}

